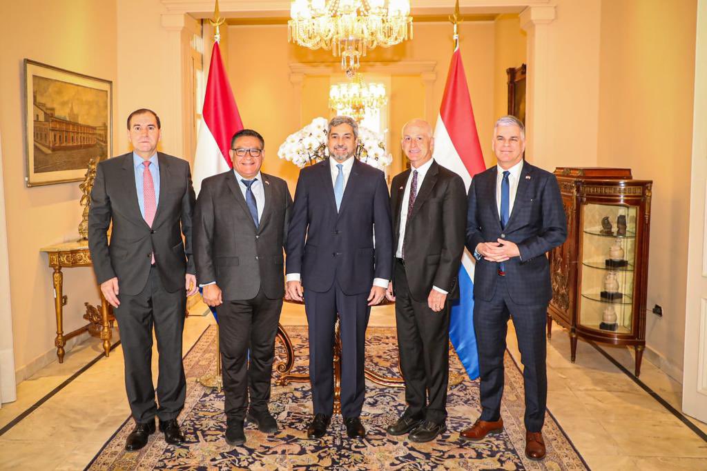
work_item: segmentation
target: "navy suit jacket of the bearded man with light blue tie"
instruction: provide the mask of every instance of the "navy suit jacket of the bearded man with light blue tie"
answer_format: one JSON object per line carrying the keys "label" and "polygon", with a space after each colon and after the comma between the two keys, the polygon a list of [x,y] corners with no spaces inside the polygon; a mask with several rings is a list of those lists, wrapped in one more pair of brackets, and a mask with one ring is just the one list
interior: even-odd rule
{"label": "navy suit jacket of the bearded man with light blue tie", "polygon": [[336,280],[349,295],[369,292],[373,278],[390,280],[389,204],[383,172],[370,165],[354,160],[339,213],[329,160],[303,168],[287,237],[287,273],[300,273],[305,290],[327,292]]}

